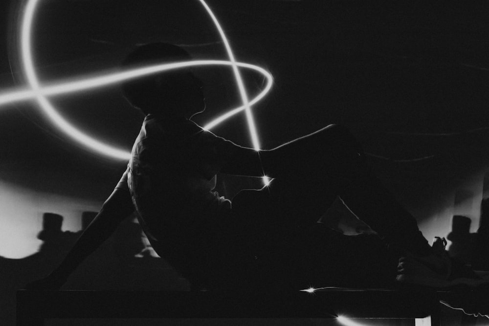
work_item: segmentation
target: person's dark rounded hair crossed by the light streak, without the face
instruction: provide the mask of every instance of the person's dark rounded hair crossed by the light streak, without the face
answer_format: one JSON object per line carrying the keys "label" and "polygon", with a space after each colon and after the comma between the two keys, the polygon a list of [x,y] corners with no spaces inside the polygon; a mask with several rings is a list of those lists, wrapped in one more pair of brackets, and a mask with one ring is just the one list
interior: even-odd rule
{"label": "person's dark rounded hair crossed by the light streak, without the face", "polygon": [[[191,59],[190,54],[177,45],[150,43],[135,48],[121,66],[127,69]],[[128,101],[143,113],[157,113],[164,109],[165,105],[167,107],[178,105],[185,88],[192,82],[193,75],[189,74],[191,74],[189,69],[178,69],[129,80],[122,84],[122,91]]]}

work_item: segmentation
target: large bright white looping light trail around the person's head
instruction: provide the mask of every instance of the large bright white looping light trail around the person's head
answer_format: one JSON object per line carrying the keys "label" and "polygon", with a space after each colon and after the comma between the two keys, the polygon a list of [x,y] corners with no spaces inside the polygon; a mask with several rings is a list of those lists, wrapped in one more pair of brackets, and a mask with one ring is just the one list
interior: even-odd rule
{"label": "large bright white looping light trail around the person's head", "polygon": [[[216,28],[218,29],[219,34],[221,36],[222,42],[224,43],[224,46],[226,48],[229,61],[200,60],[200,61],[179,62],[179,63],[172,63],[172,64],[164,64],[164,65],[151,65],[151,66],[146,66],[138,69],[126,70],[123,72],[104,74],[97,77],[70,80],[59,84],[41,85],[35,72],[33,53],[32,53],[32,25],[34,22],[37,5],[40,2],[40,0],[28,0],[22,17],[20,43],[21,43],[22,69],[30,88],[14,90],[14,91],[0,94],[0,106],[8,103],[13,103],[13,102],[35,100],[39,104],[41,109],[44,111],[44,114],[49,118],[49,120],[59,130],[61,130],[71,139],[85,145],[90,150],[97,152],[99,154],[103,154],[115,159],[128,160],[130,158],[129,152],[107,145],[89,136],[88,134],[82,132],[81,130],[78,130],[76,127],[71,125],[63,116],[61,116],[58,113],[58,110],[55,109],[55,107],[48,100],[48,96],[62,95],[67,93],[93,89],[97,87],[103,87],[114,83],[120,83],[125,80],[138,78],[141,76],[146,76],[150,74],[160,73],[163,71],[178,69],[178,68],[183,68],[188,66],[229,65],[233,69],[233,73],[236,79],[236,83],[238,85],[238,91],[240,93],[243,105],[235,109],[230,109],[226,113],[222,114],[221,116],[215,118],[211,122],[204,125],[203,128],[209,130],[217,126],[218,124],[222,123],[229,117],[244,110],[246,113],[246,118],[247,118],[251,140],[253,143],[253,148],[259,151],[260,143],[258,140],[258,132],[256,130],[252,112],[251,112],[251,106],[257,103],[258,101],[260,101],[267,94],[267,92],[270,90],[272,86],[273,78],[270,75],[270,73],[267,72],[267,70],[259,66],[236,62],[234,58],[234,54],[229,45],[229,42],[225,37],[222,27],[219,24],[214,13],[209,8],[209,6],[205,3],[204,0],[199,0],[199,1],[204,6],[208,15],[216,25]],[[267,80],[267,84],[265,88],[251,101],[248,99],[248,95],[246,93],[243,79],[241,77],[238,67],[253,69],[258,73],[262,74]],[[268,183],[268,179],[266,177],[264,177],[264,182],[265,184]]]}

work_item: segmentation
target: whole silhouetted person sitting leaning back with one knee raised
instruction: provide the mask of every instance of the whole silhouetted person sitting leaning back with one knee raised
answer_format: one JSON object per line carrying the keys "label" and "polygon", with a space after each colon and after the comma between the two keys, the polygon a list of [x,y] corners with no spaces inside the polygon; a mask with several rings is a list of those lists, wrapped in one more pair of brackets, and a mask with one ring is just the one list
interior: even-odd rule
{"label": "whole silhouetted person sitting leaning back with one knee raised", "polygon": [[[138,47],[123,65],[190,59],[178,46],[155,43]],[[398,261],[389,258],[385,243],[427,266],[430,277],[449,277],[445,252],[428,245],[416,220],[371,174],[345,128],[330,125],[255,151],[192,121],[205,102],[190,69],[126,82],[123,90],[145,114],[128,169],[66,260],[33,286],[61,286],[134,208],[156,252],[195,289],[392,282]],[[214,191],[218,173],[275,179],[231,201]],[[379,236],[348,238],[317,223],[337,196]],[[413,273],[425,276],[406,261],[400,267],[401,281],[416,280]]]}

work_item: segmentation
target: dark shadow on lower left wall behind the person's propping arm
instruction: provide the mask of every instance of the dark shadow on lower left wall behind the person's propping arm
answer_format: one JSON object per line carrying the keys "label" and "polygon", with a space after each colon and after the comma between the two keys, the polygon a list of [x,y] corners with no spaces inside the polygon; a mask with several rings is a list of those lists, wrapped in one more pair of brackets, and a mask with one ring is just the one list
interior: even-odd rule
{"label": "dark shadow on lower left wall behind the person's propping arm", "polygon": [[[82,231],[96,212],[82,213]],[[44,213],[39,251],[23,259],[0,256],[0,325],[15,325],[15,293],[48,275],[63,260],[82,231],[62,231],[63,217]],[[188,290],[189,284],[156,255],[137,219],[129,217],[69,277],[63,290]]]}

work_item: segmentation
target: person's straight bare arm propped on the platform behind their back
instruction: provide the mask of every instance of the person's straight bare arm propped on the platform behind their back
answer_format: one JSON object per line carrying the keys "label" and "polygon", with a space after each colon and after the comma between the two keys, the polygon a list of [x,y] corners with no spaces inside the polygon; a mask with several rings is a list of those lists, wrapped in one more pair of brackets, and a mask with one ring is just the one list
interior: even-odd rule
{"label": "person's straight bare arm propped on the platform behind their back", "polygon": [[107,198],[100,212],[78,238],[58,268],[46,278],[27,284],[27,289],[61,288],[76,267],[112,235],[124,218],[133,214],[134,206],[127,182],[125,187],[119,185]]}

